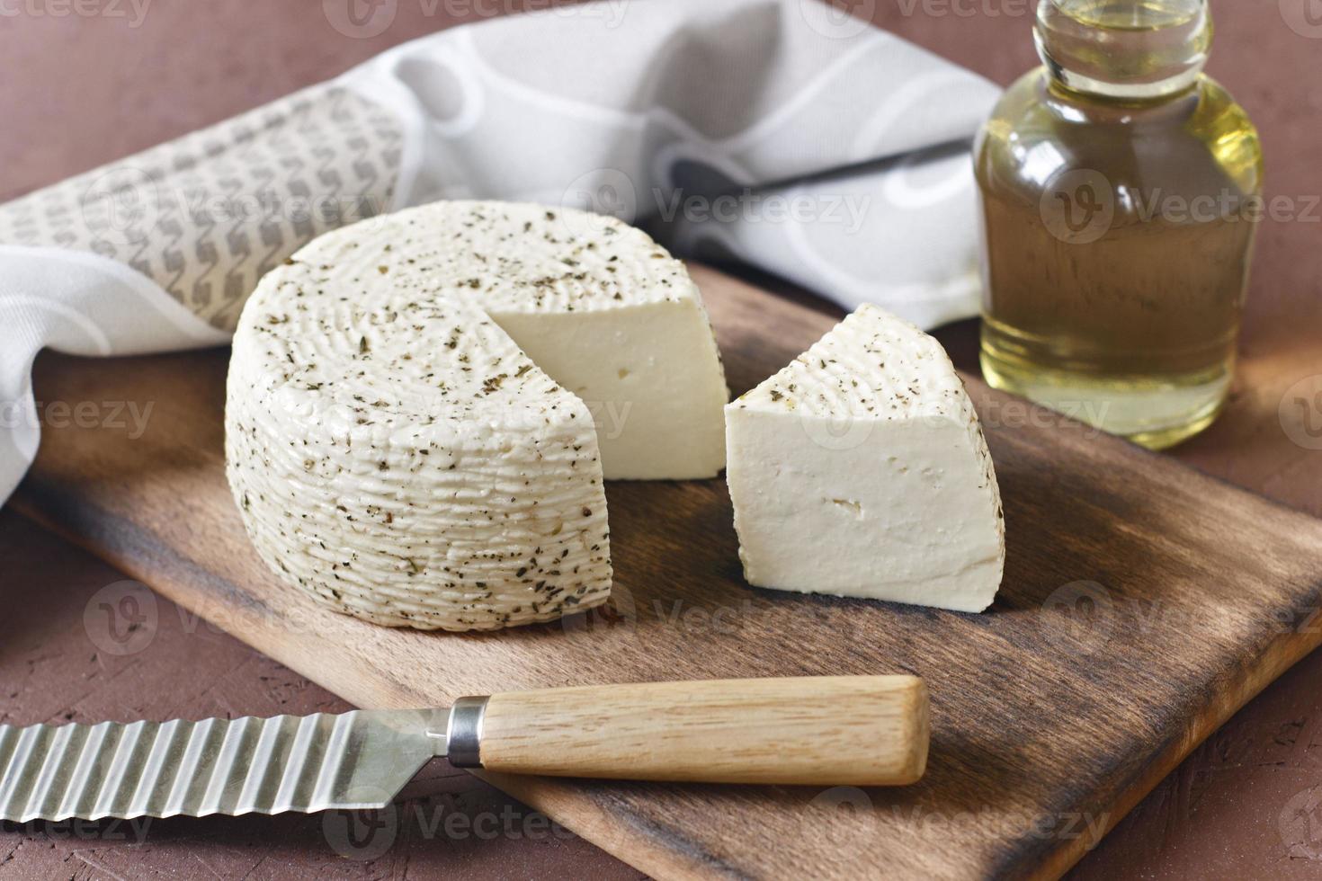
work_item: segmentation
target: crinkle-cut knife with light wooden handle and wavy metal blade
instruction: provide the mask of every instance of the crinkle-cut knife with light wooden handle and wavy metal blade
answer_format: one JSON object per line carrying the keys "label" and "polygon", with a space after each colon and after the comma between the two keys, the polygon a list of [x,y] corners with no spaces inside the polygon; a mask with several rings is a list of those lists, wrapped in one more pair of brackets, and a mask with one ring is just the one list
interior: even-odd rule
{"label": "crinkle-cut knife with light wooden handle and wavy metal blade", "polygon": [[432,757],[514,774],[898,786],[923,775],[915,676],[588,686],[451,709],[0,725],[0,819],[379,808]]}

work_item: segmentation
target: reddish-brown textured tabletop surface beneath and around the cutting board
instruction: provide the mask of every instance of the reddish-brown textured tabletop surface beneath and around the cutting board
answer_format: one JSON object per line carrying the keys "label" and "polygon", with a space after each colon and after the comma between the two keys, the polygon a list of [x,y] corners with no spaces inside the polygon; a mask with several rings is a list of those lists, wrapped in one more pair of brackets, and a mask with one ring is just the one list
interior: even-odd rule
{"label": "reddish-brown textured tabletop surface beneath and around the cutting board", "polygon": [[[218,122],[403,40],[456,21],[546,5],[398,0],[390,28],[356,40],[328,24],[321,0],[149,0],[140,26],[131,26],[130,0],[114,7],[123,17],[106,15],[108,0],[83,1],[85,11],[102,15],[75,15],[66,0],[0,3],[0,199]],[[1317,444],[1290,440],[1318,439],[1322,400],[1306,387],[1306,395],[1290,392],[1284,424],[1278,415],[1286,390],[1322,374],[1322,209],[1313,203],[1322,195],[1315,144],[1322,131],[1315,86],[1322,26],[1311,29],[1317,38],[1301,33],[1307,28],[1290,26],[1305,21],[1309,3],[1212,0],[1219,37],[1211,73],[1259,123],[1269,194],[1289,198],[1300,217],[1266,221],[1260,230],[1244,365],[1229,411],[1173,454],[1322,515],[1322,452],[1309,448]],[[850,0],[849,8],[1007,83],[1035,62],[1031,5]],[[973,366],[973,322],[939,335],[961,366]],[[334,696],[165,602],[143,651],[103,651],[97,617],[86,626],[85,609],[122,576],[12,511],[0,512],[0,721],[342,708]],[[1264,692],[1145,799],[1075,874],[1322,877],[1319,676],[1322,654]],[[494,836],[430,835],[412,810],[395,845],[364,863],[338,856],[319,818],[159,822],[143,844],[124,827],[7,827],[0,831],[0,876],[637,876],[446,766],[434,767],[411,795],[410,807],[420,808],[427,823],[460,814],[485,823]]]}

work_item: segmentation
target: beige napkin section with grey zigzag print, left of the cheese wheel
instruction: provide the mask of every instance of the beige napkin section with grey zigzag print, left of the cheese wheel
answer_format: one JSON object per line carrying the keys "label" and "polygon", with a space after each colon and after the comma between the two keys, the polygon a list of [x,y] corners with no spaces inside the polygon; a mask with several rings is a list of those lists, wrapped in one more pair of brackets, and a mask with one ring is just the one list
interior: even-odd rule
{"label": "beige napkin section with grey zigzag print, left of the cheese wheel", "polygon": [[271,267],[389,210],[401,140],[390,111],[313,86],[0,206],[0,243],[127,263],[233,330]]}

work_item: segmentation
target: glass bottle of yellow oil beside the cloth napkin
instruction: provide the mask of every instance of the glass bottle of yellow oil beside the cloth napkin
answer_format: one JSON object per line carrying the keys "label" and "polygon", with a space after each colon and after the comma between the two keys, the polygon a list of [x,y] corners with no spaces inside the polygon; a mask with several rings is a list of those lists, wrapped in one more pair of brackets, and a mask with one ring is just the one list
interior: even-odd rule
{"label": "glass bottle of yellow oil beside the cloth napkin", "polygon": [[1206,0],[1040,0],[974,153],[988,382],[1154,449],[1225,400],[1261,213],[1211,33]]}

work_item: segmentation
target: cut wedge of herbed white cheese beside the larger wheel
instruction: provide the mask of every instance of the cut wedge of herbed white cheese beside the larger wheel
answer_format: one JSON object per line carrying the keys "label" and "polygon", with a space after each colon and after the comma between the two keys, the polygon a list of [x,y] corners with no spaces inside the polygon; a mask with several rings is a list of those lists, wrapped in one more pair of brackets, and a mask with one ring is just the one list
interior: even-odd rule
{"label": "cut wedge of herbed white cheese beside the larger wheel", "polygon": [[865,305],[726,407],[750,584],[981,612],[1005,563],[992,457],[940,343]]}

